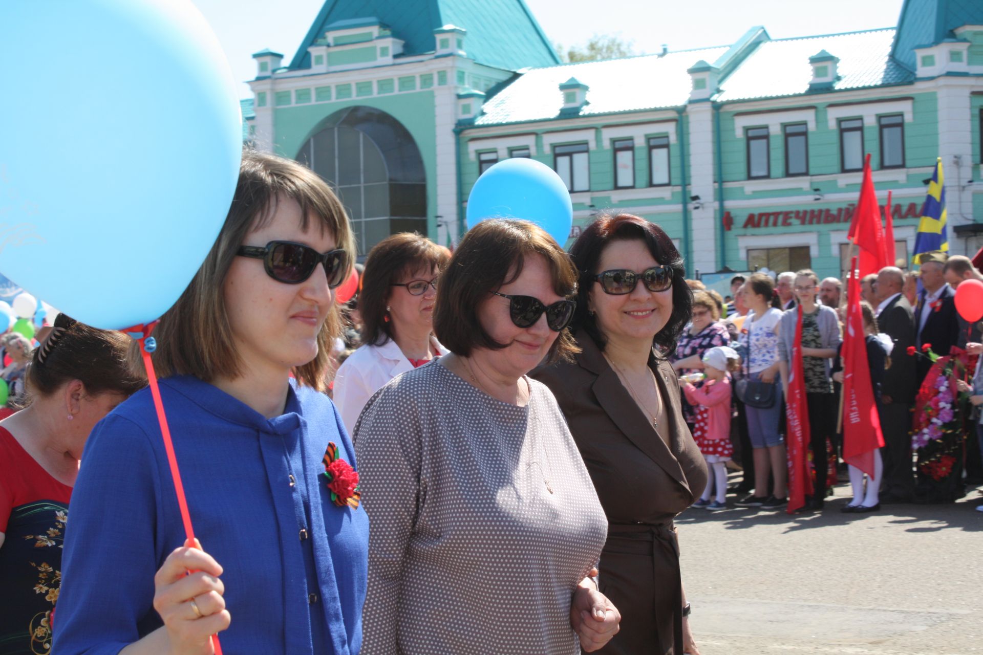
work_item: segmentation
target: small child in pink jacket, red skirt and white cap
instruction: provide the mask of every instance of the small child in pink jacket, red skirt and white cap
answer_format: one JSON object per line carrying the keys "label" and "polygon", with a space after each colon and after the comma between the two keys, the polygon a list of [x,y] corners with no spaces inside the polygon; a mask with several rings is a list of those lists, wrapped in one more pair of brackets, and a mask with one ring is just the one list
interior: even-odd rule
{"label": "small child in pink jacket, red skirt and white cap", "polygon": [[[696,408],[696,423],[693,428],[693,439],[700,447],[707,467],[714,471],[703,497],[693,503],[693,507],[702,507],[716,512],[726,507],[724,502],[727,493],[726,463],[733,455],[730,444],[730,375],[740,367],[740,355],[726,346],[712,348],[703,355],[704,374],[706,380],[699,388],[691,382],[683,380],[682,391],[686,400]],[[710,495],[716,487],[716,498],[713,502]]]}

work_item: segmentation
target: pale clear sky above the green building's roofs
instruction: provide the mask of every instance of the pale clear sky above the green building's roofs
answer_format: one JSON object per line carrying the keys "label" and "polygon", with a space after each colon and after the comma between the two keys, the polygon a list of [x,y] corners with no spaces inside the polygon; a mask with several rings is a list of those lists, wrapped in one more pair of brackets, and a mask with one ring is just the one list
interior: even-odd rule
{"label": "pale clear sky above the green building's roofs", "polygon": [[[330,1],[330,0],[328,0]],[[420,0],[403,0],[419,2]],[[482,0],[476,0],[481,2]],[[236,78],[256,73],[251,55],[270,48],[293,58],[324,0],[193,0],[218,34]],[[902,0],[526,0],[554,43],[569,47],[615,34],[639,53],[729,44],[761,25],[772,38],[894,27]],[[604,11],[598,11],[599,5]],[[392,26],[397,30],[398,26]],[[469,29],[479,27],[465,26]],[[251,95],[249,86],[241,96]]]}

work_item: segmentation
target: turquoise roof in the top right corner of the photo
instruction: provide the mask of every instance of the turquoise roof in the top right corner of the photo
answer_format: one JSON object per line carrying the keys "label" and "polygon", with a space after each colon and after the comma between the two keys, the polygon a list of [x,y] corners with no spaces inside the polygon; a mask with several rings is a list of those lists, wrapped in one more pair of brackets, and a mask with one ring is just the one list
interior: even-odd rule
{"label": "turquoise roof in the top right corner of the photo", "polygon": [[981,0],[904,0],[891,54],[914,71],[914,48],[942,43],[964,25],[983,25]]}

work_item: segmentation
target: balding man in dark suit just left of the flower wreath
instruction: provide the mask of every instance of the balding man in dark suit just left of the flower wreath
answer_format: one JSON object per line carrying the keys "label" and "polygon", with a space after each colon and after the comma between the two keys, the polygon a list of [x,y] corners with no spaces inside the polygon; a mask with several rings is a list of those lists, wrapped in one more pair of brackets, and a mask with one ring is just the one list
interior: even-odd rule
{"label": "balding man in dark suit just left of the flower wreath", "polygon": [[915,357],[907,354],[915,345],[915,324],[911,303],[901,289],[904,273],[895,266],[882,268],[877,275],[877,323],[891,337],[891,368],[881,383],[881,430],[884,432],[884,479],[882,503],[910,503],[914,494],[911,466],[911,409],[918,391]]}

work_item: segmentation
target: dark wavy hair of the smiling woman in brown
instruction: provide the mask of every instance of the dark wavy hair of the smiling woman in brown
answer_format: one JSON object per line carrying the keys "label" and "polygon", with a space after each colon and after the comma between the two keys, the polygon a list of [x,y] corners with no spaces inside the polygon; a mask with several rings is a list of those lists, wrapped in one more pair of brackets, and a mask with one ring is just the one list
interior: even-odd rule
{"label": "dark wavy hair of the smiling woman in brown", "polygon": [[[663,266],[672,269],[672,313],[663,329],[653,338],[652,345],[661,351],[662,356],[675,352],[676,341],[690,319],[693,306],[693,293],[686,281],[686,269],[682,256],[672,244],[665,231],[650,221],[633,214],[602,214],[591,223],[570,248],[573,263],[580,272],[577,292],[577,309],[573,314],[574,329],[582,329],[602,351],[607,346],[607,338],[598,327],[597,319],[587,310],[588,300],[593,291],[605,293],[595,283],[601,254],[605,247],[616,241],[640,241],[645,244],[652,256]],[[636,271],[640,272],[640,271]],[[642,284],[639,281],[639,284]]]}

